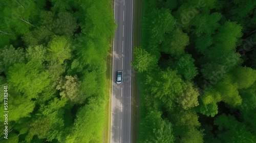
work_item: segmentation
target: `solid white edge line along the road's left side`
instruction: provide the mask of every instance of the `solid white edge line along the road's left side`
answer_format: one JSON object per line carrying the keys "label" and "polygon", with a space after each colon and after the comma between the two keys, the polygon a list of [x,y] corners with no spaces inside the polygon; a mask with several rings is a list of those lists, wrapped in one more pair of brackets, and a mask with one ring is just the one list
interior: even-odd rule
{"label": "solid white edge line along the road's left side", "polygon": [[[114,19],[115,19],[115,12],[116,12],[116,0],[114,1]],[[114,20],[115,22],[115,20]],[[112,53],[112,79],[114,77],[114,49],[115,49],[115,38],[113,39],[113,53]],[[112,142],[112,116],[113,116],[113,112],[112,112],[112,108],[113,108],[113,102],[112,102],[112,97],[113,97],[113,81],[112,81],[112,93],[111,93],[111,129],[110,129],[110,142]]]}

